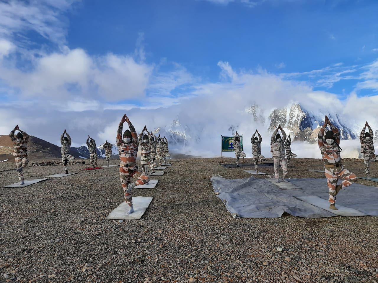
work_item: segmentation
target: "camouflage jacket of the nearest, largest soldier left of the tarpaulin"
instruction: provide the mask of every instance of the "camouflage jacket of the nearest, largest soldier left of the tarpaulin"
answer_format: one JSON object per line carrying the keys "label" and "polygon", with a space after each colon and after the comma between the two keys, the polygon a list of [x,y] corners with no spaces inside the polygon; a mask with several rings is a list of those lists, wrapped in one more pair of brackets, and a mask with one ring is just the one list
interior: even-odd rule
{"label": "camouflage jacket of the nearest, largest soldier left of the tarpaulin", "polygon": [[130,165],[130,169],[137,169],[136,167],[136,155],[138,154],[138,134],[135,132],[135,128],[131,123],[129,123],[130,132],[132,135],[132,141],[125,143],[122,138],[122,128],[123,123],[119,123],[117,131],[117,146],[119,151],[119,160],[121,160],[121,165]]}

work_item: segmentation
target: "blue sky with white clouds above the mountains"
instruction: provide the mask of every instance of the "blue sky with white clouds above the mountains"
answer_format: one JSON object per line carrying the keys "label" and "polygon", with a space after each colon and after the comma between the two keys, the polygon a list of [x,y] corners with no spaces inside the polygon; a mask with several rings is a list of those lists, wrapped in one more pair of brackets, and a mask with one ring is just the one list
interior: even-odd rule
{"label": "blue sky with white clouds above the mountains", "polygon": [[197,120],[194,103],[211,121],[311,97],[345,118],[376,112],[377,14],[367,0],[1,2],[0,134],[20,123],[47,140],[41,125],[106,139],[122,112],[160,111],[157,128]]}

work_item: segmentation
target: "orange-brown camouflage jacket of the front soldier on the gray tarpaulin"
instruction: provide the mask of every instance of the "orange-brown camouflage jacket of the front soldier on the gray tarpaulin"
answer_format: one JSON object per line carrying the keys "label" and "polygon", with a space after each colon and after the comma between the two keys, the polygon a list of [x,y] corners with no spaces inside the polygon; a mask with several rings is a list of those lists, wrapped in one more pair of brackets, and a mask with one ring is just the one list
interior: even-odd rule
{"label": "orange-brown camouflage jacket of the front soldier on the gray tarpaulin", "polygon": [[334,125],[331,125],[331,130],[335,134],[335,138],[336,138],[335,142],[332,143],[332,145],[328,145],[325,142],[325,138],[324,138],[325,126],[322,126],[318,134],[318,146],[322,154],[325,165],[334,165],[334,164],[340,163],[341,161],[340,147],[339,147],[340,132],[339,132],[339,129],[336,128]]}

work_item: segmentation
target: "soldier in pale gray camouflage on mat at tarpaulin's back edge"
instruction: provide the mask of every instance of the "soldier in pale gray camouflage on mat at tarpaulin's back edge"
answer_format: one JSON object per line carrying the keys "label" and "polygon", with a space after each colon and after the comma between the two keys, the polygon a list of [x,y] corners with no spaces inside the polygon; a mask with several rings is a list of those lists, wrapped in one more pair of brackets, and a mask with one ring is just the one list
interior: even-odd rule
{"label": "soldier in pale gray camouflage on mat at tarpaulin's back edge", "polygon": [[[282,138],[281,135],[277,133],[278,130],[281,130]],[[283,171],[281,180],[287,182],[287,180],[285,180],[287,175],[287,160],[285,157],[285,145],[283,144],[284,140],[286,140],[286,133],[281,128],[281,125],[279,125],[278,128],[273,132],[270,142],[270,152],[272,153],[274,163],[274,176],[277,179],[277,183],[280,182],[280,176],[278,174],[278,168],[280,165]]]}

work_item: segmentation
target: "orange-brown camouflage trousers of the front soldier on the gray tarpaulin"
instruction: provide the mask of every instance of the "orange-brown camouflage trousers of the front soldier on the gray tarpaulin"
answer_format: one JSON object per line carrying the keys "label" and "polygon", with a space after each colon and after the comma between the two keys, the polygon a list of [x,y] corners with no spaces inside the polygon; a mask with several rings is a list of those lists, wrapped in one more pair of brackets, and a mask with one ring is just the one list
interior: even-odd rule
{"label": "orange-brown camouflage trousers of the front soldier on the gray tarpaulin", "polygon": [[325,167],[324,168],[325,177],[327,177],[328,189],[329,189],[329,198],[330,203],[335,203],[336,197],[333,194],[335,192],[337,182],[339,178],[343,179],[341,182],[341,188],[352,185],[357,181],[357,176],[345,169],[344,166],[339,167]]}

